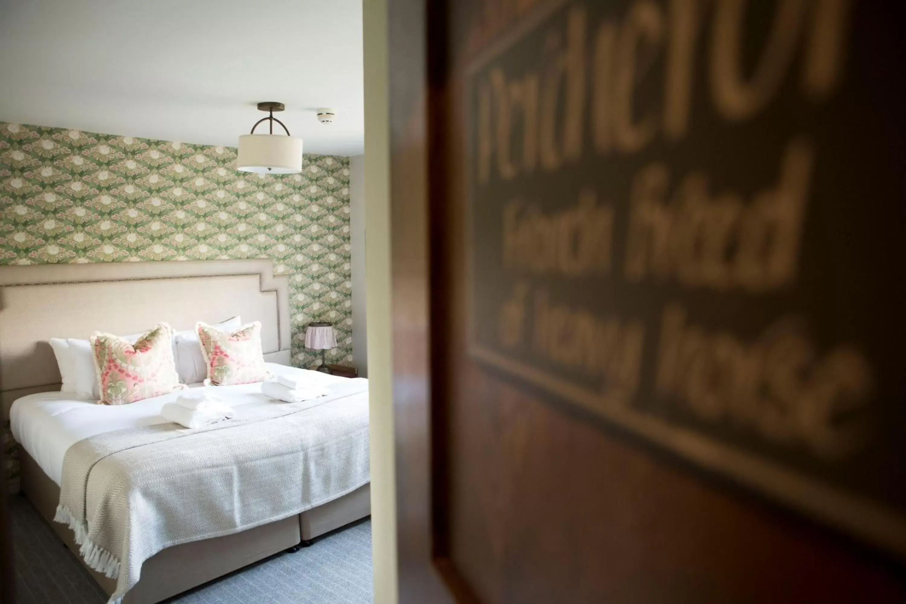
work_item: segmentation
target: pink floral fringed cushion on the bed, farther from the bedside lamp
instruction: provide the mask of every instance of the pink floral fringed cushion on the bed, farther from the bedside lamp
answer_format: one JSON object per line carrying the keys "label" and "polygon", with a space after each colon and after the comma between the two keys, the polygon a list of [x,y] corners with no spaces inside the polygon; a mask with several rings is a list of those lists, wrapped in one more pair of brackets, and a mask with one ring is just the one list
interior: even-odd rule
{"label": "pink floral fringed cushion on the bed, farther from the bedside lamp", "polygon": [[91,338],[103,405],[125,405],[186,388],[173,361],[173,330],[160,323],[135,344],[112,333]]}

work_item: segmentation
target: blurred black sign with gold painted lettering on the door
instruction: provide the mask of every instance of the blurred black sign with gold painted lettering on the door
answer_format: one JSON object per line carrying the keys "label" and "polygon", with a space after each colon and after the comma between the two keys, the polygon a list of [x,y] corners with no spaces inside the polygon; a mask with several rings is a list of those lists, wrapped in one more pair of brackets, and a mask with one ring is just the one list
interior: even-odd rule
{"label": "blurred black sign with gold painted lettering on the door", "polygon": [[844,523],[906,553],[906,501],[882,502],[885,536],[849,498],[885,495],[853,470],[880,378],[845,310],[814,312],[826,280],[805,262],[840,152],[810,113],[833,120],[846,91],[852,14],[554,3],[477,56],[470,350],[747,484],[799,481],[813,512],[805,493],[830,489]]}

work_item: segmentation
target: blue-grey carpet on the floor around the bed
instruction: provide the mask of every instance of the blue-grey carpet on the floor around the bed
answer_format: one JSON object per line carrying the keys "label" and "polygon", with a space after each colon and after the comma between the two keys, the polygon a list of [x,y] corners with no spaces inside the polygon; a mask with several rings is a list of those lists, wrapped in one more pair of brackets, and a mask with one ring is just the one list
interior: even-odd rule
{"label": "blue-grey carpet on the floor around the bed", "polygon": [[[18,604],[103,604],[101,587],[24,497],[10,497]],[[187,591],[179,604],[371,602],[371,521]]]}

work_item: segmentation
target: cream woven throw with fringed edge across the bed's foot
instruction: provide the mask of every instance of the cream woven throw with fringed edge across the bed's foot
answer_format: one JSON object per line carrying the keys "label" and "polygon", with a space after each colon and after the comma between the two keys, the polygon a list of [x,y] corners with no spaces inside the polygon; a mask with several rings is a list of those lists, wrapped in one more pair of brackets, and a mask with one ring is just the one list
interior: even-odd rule
{"label": "cream woven throw with fringed edge across the bed's foot", "polygon": [[[60,505],[88,565],[117,579],[117,604],[158,551],[276,522],[369,482],[368,381],[318,405],[265,405],[207,427],[92,436],[63,459]],[[240,407],[241,408],[241,407]]]}

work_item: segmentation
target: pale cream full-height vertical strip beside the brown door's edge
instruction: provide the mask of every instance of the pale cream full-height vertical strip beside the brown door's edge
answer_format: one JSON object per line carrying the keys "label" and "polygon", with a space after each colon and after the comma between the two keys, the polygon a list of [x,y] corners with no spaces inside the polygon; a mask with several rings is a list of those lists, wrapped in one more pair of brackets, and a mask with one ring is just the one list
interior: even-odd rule
{"label": "pale cream full-height vertical strip beside the brown door's edge", "polygon": [[365,283],[371,410],[371,553],[375,604],[399,600],[390,346],[390,98],[387,0],[363,0]]}

